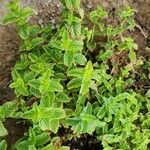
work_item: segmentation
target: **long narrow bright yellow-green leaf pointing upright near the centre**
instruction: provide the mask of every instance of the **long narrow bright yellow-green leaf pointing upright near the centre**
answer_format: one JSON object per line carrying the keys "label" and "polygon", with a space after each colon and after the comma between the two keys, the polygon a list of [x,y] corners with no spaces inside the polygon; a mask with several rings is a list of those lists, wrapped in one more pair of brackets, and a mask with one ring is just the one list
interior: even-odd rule
{"label": "long narrow bright yellow-green leaf pointing upright near the centre", "polygon": [[84,77],[81,84],[80,94],[85,95],[89,91],[92,75],[93,75],[93,65],[89,61],[85,67]]}

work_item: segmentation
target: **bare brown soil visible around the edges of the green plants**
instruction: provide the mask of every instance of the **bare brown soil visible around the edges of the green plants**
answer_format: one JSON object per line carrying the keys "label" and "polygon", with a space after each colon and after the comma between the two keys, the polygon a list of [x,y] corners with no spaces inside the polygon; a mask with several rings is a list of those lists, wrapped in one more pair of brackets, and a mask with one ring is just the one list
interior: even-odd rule
{"label": "bare brown soil visible around the edges of the green plants", "polygon": [[[9,1],[0,0],[0,21],[8,12],[5,5]],[[36,22],[41,26],[49,22],[55,25],[60,19],[62,6],[59,0],[21,0],[21,2],[23,6],[29,5],[37,10],[38,15],[32,19],[32,22]],[[135,20],[139,27],[127,34],[132,36],[137,42],[139,55],[144,57],[150,55],[146,50],[150,46],[150,0],[82,0],[82,5],[87,12],[93,10],[98,5],[103,5],[110,15],[108,22],[112,24],[117,24],[117,21],[114,22],[116,20],[114,19],[115,10],[125,5],[135,8],[137,10]],[[11,81],[11,68],[18,58],[18,49],[19,38],[15,27],[0,25],[0,105],[6,101],[13,100],[15,97],[13,91],[9,88],[9,83]],[[23,135],[25,131],[23,128],[25,125],[17,124],[16,120],[7,120],[6,127],[10,133],[7,140],[11,144]]]}

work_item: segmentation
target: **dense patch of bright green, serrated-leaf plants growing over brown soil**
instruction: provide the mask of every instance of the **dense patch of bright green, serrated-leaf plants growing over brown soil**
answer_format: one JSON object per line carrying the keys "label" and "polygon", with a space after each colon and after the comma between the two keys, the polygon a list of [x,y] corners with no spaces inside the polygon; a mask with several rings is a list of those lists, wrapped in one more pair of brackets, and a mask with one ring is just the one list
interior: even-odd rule
{"label": "dense patch of bright green, serrated-leaf plants growing over brown soil", "polygon": [[[17,25],[21,46],[10,84],[17,98],[0,107],[0,136],[6,134],[4,119],[15,117],[32,124],[13,146],[17,150],[69,149],[56,137],[60,128],[72,130],[72,138],[93,135],[104,150],[148,149],[149,91],[132,88],[144,62],[134,39],[124,36],[136,26],[135,10],[119,11],[120,24],[112,26],[99,7],[90,13],[89,28],[80,0],[62,3],[57,31],[31,25],[34,11],[20,8],[18,0],[9,4],[4,24]],[[0,146],[6,149],[4,141]]]}

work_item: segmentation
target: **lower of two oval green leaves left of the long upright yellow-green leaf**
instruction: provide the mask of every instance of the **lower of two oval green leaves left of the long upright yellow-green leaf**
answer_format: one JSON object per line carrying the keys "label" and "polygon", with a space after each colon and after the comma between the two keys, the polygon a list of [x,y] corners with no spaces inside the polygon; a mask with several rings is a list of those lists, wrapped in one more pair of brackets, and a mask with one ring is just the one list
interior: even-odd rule
{"label": "lower of two oval green leaves left of the long upright yellow-green leaf", "polygon": [[81,86],[81,83],[82,83],[82,79],[74,78],[67,84],[67,88],[69,90],[79,88]]}

